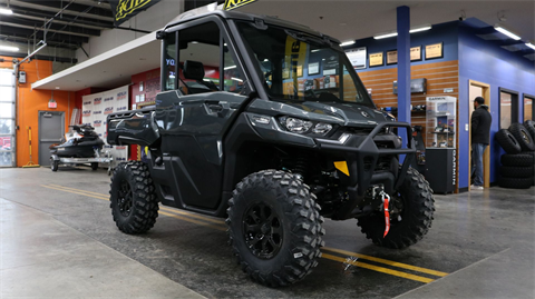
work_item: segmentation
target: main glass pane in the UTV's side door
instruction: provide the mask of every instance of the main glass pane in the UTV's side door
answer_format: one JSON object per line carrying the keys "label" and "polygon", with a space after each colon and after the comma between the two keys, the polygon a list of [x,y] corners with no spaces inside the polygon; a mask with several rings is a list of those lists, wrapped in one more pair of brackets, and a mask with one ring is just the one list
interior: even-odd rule
{"label": "main glass pane in the UTV's side door", "polygon": [[221,90],[221,33],[214,22],[178,31],[181,76],[178,89],[183,94]]}

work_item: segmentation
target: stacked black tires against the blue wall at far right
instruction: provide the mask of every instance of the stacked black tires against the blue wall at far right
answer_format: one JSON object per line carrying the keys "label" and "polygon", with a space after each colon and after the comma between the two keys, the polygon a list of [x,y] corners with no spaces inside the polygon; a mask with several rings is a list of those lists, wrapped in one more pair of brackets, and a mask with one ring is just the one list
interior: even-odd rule
{"label": "stacked black tires against the blue wall at far right", "polygon": [[535,185],[535,122],[512,123],[496,133],[496,140],[507,152],[500,157],[499,187],[527,189]]}

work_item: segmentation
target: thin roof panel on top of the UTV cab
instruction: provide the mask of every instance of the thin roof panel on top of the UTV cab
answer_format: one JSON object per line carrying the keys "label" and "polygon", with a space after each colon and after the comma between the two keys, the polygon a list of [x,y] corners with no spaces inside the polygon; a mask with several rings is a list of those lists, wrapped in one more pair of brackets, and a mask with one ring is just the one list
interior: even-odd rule
{"label": "thin roof panel on top of the UTV cab", "polygon": [[331,42],[339,44],[340,40],[334,39],[332,37],[329,37],[327,34],[320,33],[315,30],[312,30],[311,28],[307,26],[302,26],[299,23],[290,22],[290,21],[284,21],[278,18],[269,17],[269,16],[260,16],[260,14],[253,14],[253,13],[244,13],[244,12],[237,12],[237,11],[226,11],[226,10],[221,10],[221,9],[215,9],[213,11],[208,11],[205,7],[200,8],[200,9],[194,9],[191,11],[186,11],[184,13],[181,13],[178,17],[173,19],[169,23],[165,26],[165,31],[174,31],[173,27],[178,26],[181,23],[185,23],[192,20],[205,18],[208,16],[217,16],[223,19],[233,19],[233,20],[245,20],[245,21],[252,21],[252,22],[264,22],[266,24],[273,24],[273,26],[280,26],[289,29],[293,29],[296,31],[301,31],[308,34],[317,36],[323,39],[329,39]]}

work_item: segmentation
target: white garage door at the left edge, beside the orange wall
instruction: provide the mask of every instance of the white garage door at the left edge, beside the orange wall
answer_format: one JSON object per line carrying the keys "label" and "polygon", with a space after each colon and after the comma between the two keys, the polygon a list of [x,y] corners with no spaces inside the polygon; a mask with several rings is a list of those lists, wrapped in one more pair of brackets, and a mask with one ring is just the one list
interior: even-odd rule
{"label": "white garage door at the left edge, beside the orange wall", "polygon": [[0,167],[14,167],[14,73],[0,69]]}

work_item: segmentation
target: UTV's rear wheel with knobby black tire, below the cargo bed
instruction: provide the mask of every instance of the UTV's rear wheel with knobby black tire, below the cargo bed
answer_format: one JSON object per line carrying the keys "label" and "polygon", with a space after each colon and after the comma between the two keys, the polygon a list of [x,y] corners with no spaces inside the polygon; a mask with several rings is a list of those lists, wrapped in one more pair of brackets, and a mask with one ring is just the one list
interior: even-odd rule
{"label": "UTV's rear wheel with knobby black tire, below the cargo bed", "polygon": [[140,161],[118,165],[109,195],[111,215],[120,231],[133,235],[153,228],[159,207],[147,165]]}

